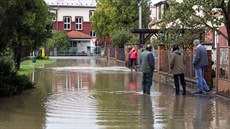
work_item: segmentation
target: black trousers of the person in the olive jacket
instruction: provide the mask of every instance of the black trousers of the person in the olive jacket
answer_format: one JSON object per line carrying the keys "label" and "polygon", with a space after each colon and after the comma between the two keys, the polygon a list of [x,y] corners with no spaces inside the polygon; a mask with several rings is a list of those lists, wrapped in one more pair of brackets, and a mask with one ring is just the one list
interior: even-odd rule
{"label": "black trousers of the person in the olive jacket", "polygon": [[186,83],[185,83],[185,79],[184,79],[184,74],[175,74],[175,75],[173,75],[173,78],[174,78],[174,85],[175,85],[176,94],[178,95],[180,93],[179,78],[180,78],[180,83],[182,85],[183,94],[186,94]]}

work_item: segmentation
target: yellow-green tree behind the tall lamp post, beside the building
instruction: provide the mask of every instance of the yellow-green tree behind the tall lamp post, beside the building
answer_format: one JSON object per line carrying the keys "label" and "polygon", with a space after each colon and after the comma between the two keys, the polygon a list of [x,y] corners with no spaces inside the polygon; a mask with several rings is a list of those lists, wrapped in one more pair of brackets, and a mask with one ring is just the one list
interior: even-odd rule
{"label": "yellow-green tree behind the tall lamp post, beside the building", "polygon": [[[91,17],[92,26],[100,41],[122,28],[138,28],[138,2],[140,0],[97,0]],[[150,0],[142,0],[143,27],[150,21]]]}

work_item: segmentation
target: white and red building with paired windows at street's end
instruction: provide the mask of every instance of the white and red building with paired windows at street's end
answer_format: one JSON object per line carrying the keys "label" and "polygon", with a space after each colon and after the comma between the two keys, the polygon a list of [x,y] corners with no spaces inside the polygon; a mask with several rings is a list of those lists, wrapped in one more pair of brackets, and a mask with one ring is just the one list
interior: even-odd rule
{"label": "white and red building with paired windows at street's end", "polygon": [[[70,39],[71,55],[92,54],[97,42],[96,34],[90,23],[90,16],[96,10],[95,0],[45,1],[52,7],[51,11],[55,14],[53,30],[65,31]],[[58,51],[56,54],[58,55]],[[66,55],[69,54],[66,53]]]}

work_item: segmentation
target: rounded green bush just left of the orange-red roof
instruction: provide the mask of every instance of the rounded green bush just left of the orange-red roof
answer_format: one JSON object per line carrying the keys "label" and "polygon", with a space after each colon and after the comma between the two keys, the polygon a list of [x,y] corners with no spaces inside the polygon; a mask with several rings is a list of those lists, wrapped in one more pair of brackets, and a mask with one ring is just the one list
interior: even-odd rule
{"label": "rounded green bush just left of the orange-red roof", "polygon": [[54,48],[66,50],[70,47],[70,42],[64,31],[53,31],[52,37],[43,46],[48,50]]}

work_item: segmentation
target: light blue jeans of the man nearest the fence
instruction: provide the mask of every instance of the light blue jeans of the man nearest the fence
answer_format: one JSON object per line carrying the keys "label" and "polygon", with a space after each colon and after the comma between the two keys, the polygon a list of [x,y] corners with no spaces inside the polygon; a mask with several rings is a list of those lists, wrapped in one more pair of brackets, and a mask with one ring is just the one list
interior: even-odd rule
{"label": "light blue jeans of the man nearest the fence", "polygon": [[209,86],[207,85],[204,79],[204,69],[196,68],[195,74],[196,74],[196,83],[197,83],[196,91],[200,92],[202,91],[202,88],[204,88],[204,90],[209,90]]}

